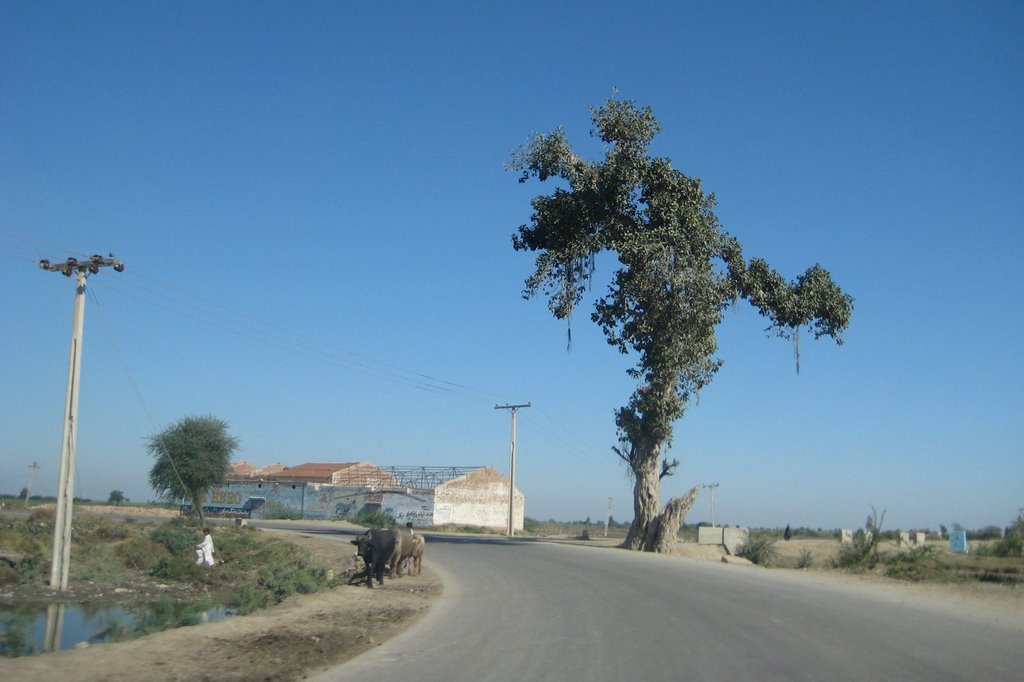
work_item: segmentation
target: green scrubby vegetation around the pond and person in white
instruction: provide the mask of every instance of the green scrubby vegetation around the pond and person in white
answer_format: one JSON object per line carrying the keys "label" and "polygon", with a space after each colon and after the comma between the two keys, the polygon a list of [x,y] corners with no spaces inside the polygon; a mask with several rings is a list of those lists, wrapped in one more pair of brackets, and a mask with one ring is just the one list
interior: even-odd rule
{"label": "green scrubby vegetation around the pond and person in white", "polygon": [[[134,626],[112,624],[110,639],[194,625],[211,608],[244,614],[272,606],[293,594],[337,584],[328,565],[272,534],[252,527],[213,526],[217,565],[196,565],[200,534],[182,517],[164,523],[119,521],[79,514],[72,530],[70,585],[73,599],[109,601],[133,612]],[[46,587],[53,517],[38,509],[29,516],[0,516],[0,589],[13,593],[9,617],[49,601]],[[68,595],[63,595],[68,598]],[[25,607],[25,608],[19,608]],[[7,630],[9,624],[4,624]],[[0,641],[0,655],[18,650],[17,640]]]}

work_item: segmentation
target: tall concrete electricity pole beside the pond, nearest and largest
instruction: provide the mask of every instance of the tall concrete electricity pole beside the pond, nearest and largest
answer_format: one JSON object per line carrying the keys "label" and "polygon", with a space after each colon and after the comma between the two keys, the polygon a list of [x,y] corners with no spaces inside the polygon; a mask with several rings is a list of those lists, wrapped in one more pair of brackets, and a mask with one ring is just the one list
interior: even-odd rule
{"label": "tall concrete electricity pole beside the pond, nearest and largest", "polygon": [[60,592],[68,589],[68,570],[71,567],[71,514],[75,500],[75,446],[78,442],[78,381],[82,371],[82,332],[85,325],[85,281],[96,274],[100,267],[112,266],[118,272],[124,263],[111,254],[109,258],[91,256],[79,261],[69,258],[62,263],[39,261],[39,267],[50,272],[60,272],[66,278],[75,275],[75,313],[71,324],[71,360],[68,367],[68,392],[65,395],[63,434],[60,438],[60,479],[57,484],[57,509],[53,525],[53,559],[50,562],[50,587]]}

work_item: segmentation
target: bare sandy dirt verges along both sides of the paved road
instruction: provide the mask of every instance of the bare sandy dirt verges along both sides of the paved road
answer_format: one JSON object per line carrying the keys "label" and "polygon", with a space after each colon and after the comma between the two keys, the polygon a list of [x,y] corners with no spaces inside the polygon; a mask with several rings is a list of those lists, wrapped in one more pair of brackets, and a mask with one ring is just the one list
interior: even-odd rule
{"label": "bare sandy dirt verges along both sides of the paved road", "polygon": [[[272,532],[272,531],[271,531]],[[337,539],[290,532],[290,539],[329,561],[339,574],[350,570],[353,556]],[[610,548],[612,541],[581,543]],[[824,565],[838,550],[829,541],[779,543],[793,558],[808,549]],[[607,549],[606,551],[615,551]],[[681,560],[722,561],[718,547],[682,544]],[[764,570],[752,566],[751,570]],[[991,613],[1024,630],[1024,590],[995,585],[911,585],[830,570],[786,571],[809,583],[871,589],[893,599],[924,600],[950,609]],[[0,659],[0,679],[53,680],[300,680],[380,645],[413,625],[441,594],[430,571],[429,545],[421,576],[385,579],[382,587],[343,586],[326,593],[292,598],[251,615],[179,628],[116,644]]]}

